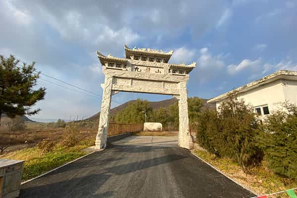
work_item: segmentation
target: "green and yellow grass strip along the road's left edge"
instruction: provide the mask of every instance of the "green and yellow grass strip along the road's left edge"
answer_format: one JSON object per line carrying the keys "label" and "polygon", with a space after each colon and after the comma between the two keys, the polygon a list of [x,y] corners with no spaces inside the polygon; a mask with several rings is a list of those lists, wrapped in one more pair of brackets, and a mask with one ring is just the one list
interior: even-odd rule
{"label": "green and yellow grass strip along the road's left edge", "polygon": [[38,147],[26,148],[0,155],[0,158],[25,160],[22,174],[23,182],[87,154],[88,152],[82,151],[82,149],[93,144],[93,141],[85,141],[70,148],[58,144],[53,151],[45,154]]}

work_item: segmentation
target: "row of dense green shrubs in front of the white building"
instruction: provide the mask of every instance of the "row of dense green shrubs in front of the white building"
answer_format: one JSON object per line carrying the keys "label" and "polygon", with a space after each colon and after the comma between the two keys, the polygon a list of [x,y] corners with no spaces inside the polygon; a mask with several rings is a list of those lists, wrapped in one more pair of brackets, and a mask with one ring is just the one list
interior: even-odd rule
{"label": "row of dense green shrubs in front of the white building", "polygon": [[199,115],[197,141],[217,157],[229,157],[245,172],[261,163],[282,177],[297,180],[297,105],[269,115],[263,123],[252,107],[230,95],[218,112]]}

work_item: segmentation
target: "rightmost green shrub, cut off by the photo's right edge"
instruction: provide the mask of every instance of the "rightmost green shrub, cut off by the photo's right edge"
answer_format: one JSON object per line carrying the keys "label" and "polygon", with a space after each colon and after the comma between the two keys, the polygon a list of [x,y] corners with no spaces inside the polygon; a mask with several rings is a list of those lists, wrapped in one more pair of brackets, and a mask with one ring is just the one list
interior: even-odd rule
{"label": "rightmost green shrub, cut off by the photo's right edge", "polygon": [[265,120],[259,145],[270,169],[297,181],[297,105],[284,106],[287,112],[275,112]]}

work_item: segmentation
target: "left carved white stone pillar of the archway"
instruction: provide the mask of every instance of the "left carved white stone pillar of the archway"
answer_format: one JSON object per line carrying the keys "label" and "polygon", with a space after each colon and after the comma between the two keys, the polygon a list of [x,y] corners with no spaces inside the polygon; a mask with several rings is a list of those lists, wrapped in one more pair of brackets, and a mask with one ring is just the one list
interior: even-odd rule
{"label": "left carved white stone pillar of the archway", "polygon": [[104,149],[106,147],[112,76],[105,75],[105,81],[104,84],[101,84],[101,87],[103,88],[103,95],[100,110],[99,128],[95,141],[96,149]]}

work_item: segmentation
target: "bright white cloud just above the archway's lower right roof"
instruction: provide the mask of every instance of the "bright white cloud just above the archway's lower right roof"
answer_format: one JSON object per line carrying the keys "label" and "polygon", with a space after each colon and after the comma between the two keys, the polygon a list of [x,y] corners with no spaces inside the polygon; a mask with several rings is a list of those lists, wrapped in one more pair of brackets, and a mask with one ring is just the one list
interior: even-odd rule
{"label": "bright white cloud just above the archway's lower right roof", "polygon": [[196,49],[187,49],[186,47],[175,49],[170,62],[172,63],[182,63],[189,64],[193,61],[196,55]]}

